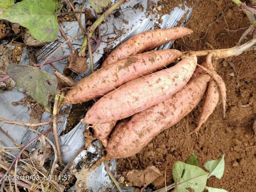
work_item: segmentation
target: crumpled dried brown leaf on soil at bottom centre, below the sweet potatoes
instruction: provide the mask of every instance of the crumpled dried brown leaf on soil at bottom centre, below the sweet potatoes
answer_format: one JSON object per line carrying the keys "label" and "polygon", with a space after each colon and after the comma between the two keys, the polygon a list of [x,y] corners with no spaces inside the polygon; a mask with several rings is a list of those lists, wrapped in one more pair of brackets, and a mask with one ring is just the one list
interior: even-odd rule
{"label": "crumpled dried brown leaf on soil at bottom centre, below the sweet potatoes", "polygon": [[145,170],[133,169],[132,171],[124,172],[123,175],[133,186],[144,186],[143,188],[145,188],[162,174],[155,166],[148,166]]}

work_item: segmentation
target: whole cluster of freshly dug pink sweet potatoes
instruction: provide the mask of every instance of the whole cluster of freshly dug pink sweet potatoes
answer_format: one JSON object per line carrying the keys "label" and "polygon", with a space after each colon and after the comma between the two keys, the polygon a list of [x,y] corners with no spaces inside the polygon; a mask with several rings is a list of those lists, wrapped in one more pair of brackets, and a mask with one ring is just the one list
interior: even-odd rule
{"label": "whole cluster of freshly dug pink sweet potatoes", "polygon": [[214,71],[213,53],[197,67],[196,55],[184,55],[174,49],[150,51],[190,33],[188,28],[176,27],[135,35],[117,47],[99,70],[67,93],[65,104],[101,97],[83,121],[92,125],[94,136],[106,147],[104,160],[138,153],[153,137],[192,111],[207,86],[195,131],[216,107],[218,88],[225,111],[226,88]]}

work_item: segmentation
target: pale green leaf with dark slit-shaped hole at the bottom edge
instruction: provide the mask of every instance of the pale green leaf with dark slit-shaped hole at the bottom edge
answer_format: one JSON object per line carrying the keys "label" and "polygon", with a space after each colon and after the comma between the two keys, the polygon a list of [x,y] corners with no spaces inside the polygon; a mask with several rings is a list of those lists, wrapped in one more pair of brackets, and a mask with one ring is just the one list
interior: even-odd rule
{"label": "pale green leaf with dark slit-shaped hole at the bottom edge", "polygon": [[177,192],[187,192],[192,188],[194,192],[202,192],[205,188],[207,176],[200,167],[176,161],[172,167],[172,176]]}

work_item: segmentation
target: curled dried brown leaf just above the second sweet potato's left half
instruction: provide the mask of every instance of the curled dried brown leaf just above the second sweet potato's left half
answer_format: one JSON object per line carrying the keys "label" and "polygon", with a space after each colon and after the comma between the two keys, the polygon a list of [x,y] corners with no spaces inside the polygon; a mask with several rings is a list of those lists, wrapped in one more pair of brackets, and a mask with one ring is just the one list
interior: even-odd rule
{"label": "curled dried brown leaf just above the second sweet potato's left half", "polygon": [[69,55],[68,65],[63,70],[63,74],[68,76],[70,71],[75,71],[76,73],[84,73],[87,71],[88,66],[86,58],[76,55]]}

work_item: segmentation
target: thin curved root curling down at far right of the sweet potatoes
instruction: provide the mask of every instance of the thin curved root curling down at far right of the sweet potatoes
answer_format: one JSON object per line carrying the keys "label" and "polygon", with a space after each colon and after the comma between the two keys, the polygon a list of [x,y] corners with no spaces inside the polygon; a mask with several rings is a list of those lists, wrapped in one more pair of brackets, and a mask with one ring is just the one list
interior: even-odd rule
{"label": "thin curved root curling down at far right of the sweet potatoes", "polygon": [[[197,64],[200,66],[199,64]],[[219,76],[215,71],[210,71],[209,69],[200,66],[203,68],[206,73],[212,76],[212,78],[215,80],[215,82],[218,84],[218,87],[220,89],[220,94],[221,94],[221,100],[222,100],[222,108],[223,108],[223,118],[225,118],[226,115],[226,102],[227,102],[227,91],[226,91],[226,85],[221,76]]]}

